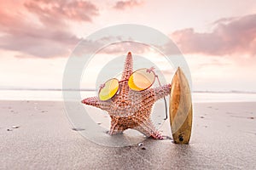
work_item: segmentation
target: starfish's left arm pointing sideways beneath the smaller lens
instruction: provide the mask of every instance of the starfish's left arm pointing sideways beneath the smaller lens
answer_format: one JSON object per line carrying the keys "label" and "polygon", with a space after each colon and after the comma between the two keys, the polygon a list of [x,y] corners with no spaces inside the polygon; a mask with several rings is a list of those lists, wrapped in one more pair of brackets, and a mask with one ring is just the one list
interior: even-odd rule
{"label": "starfish's left arm pointing sideways beneath the smaller lens", "polygon": [[84,105],[92,105],[104,111],[109,111],[111,104],[108,101],[101,101],[98,97],[90,97],[81,101]]}

